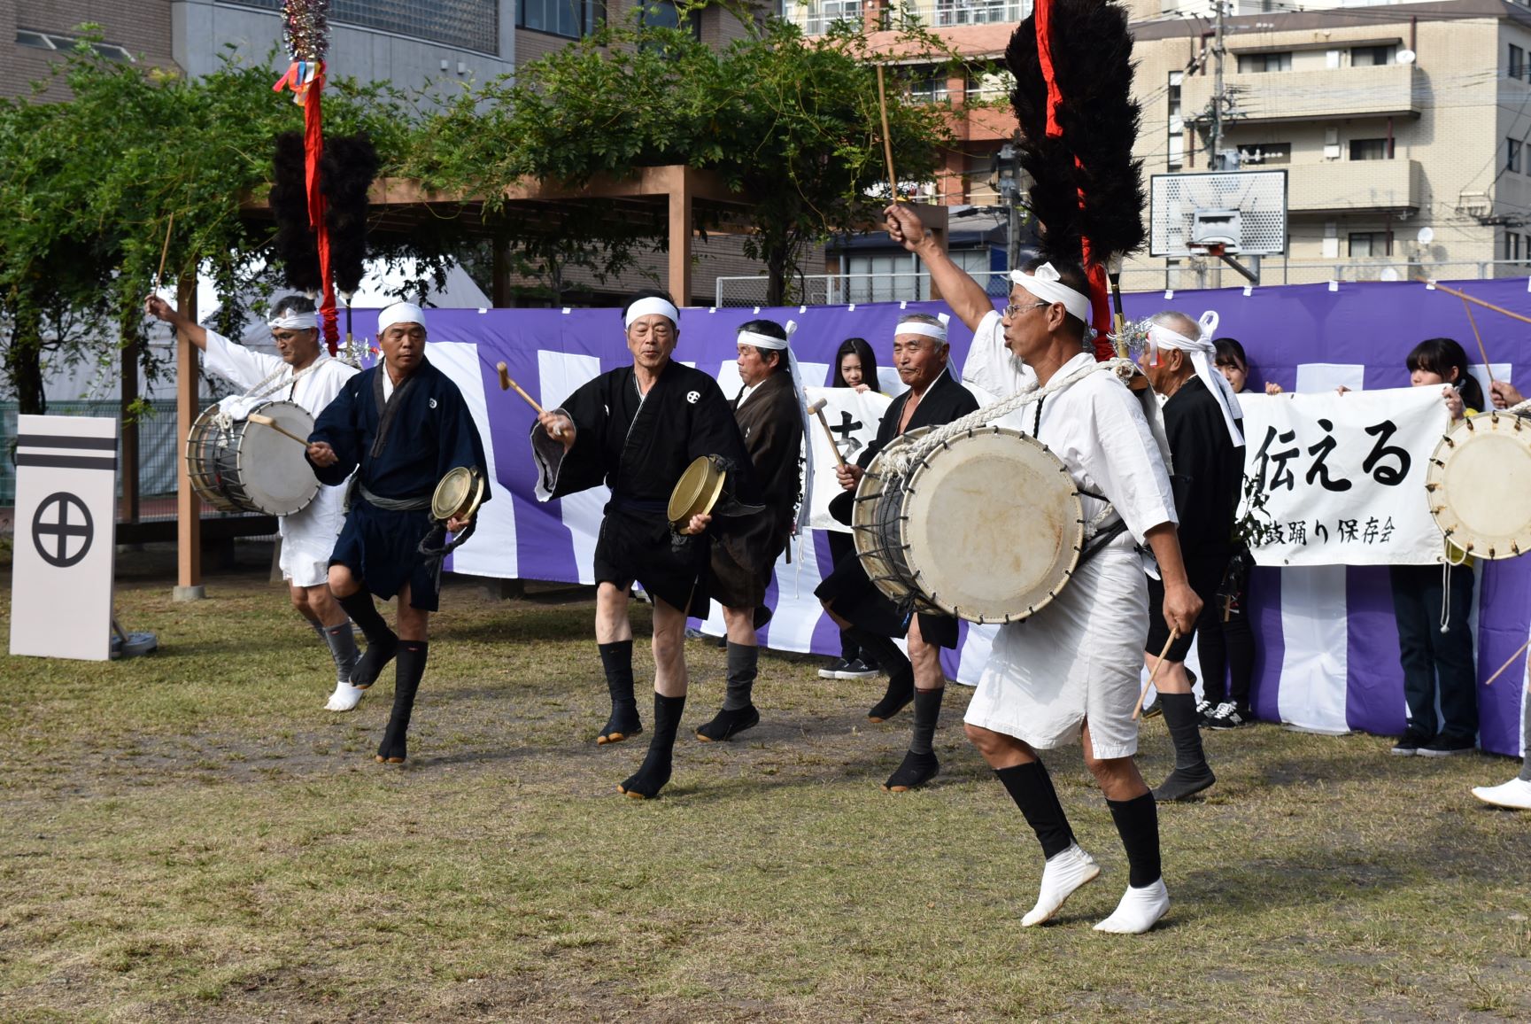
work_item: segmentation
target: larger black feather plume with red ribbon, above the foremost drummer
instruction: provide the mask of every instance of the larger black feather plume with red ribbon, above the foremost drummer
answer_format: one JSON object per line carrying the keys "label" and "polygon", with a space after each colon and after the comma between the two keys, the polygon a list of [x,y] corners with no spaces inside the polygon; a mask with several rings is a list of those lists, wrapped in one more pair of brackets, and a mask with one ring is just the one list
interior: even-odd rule
{"label": "larger black feather plume with red ribbon, above the foremost drummer", "polygon": [[1133,159],[1141,109],[1131,98],[1127,9],[1108,0],[1052,0],[1052,58],[1063,93],[1058,139],[1047,138],[1035,17],[1015,29],[1004,57],[1015,75],[1010,101],[1021,126],[1021,165],[1035,181],[1030,199],[1044,245],[1079,259],[1082,236],[1096,262],[1131,253],[1144,243],[1147,201],[1142,161]]}

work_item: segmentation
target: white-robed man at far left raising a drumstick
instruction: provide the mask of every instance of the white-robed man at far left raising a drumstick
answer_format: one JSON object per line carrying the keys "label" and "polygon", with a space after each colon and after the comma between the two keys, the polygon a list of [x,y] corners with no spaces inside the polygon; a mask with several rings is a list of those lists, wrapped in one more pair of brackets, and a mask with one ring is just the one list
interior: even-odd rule
{"label": "white-robed man at far left raising a drumstick", "polygon": [[[250,399],[289,401],[302,406],[317,421],[325,406],[340,393],[341,384],[357,372],[354,366],[331,357],[320,344],[314,302],[303,295],[279,302],[268,321],[279,355],[234,344],[219,332],[182,317],[158,295],[144,302],[144,312],[185,334],[202,351],[207,372],[243,392],[243,406]],[[282,530],[279,563],[292,608],[314,628],[335,663],[335,690],[325,704],[331,712],[352,710],[366,692],[351,686],[351,669],[358,658],[357,640],[351,620],[329,592],[329,553],[346,520],[344,491],[344,487],[320,487],[305,508],[277,519]]]}

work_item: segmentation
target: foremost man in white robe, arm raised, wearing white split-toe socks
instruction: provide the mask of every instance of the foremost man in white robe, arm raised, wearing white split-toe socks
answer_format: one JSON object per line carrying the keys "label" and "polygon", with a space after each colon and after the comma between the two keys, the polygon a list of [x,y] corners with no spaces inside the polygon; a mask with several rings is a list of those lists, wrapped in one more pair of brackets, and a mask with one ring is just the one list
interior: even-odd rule
{"label": "foremost man in white robe, arm raised, wearing white split-toe socks", "polygon": [[[1075,842],[1036,752],[1073,742],[1095,776],[1122,845],[1130,879],[1098,931],[1139,934],[1164,917],[1170,897],[1159,868],[1159,817],[1133,761],[1133,706],[1148,632],[1148,592],[1136,548],[1147,545],[1165,583],[1165,620],[1190,631],[1200,612],[1176,539],[1174,497],[1164,448],[1144,406],[1108,372],[1090,372],[1090,302],[1078,263],[1012,272],[1010,305],[997,312],[972,277],[922,230],[914,213],[886,210],[888,233],[916,253],[952,311],[974,331],[963,381],[995,395],[1055,389],[1012,415],[1069,468],[1093,522],[1070,583],[1032,618],[1000,628],[968,707],[968,738],[1036,833],[1047,862],[1023,926],[1053,917],[1099,866]],[[1066,387],[1064,381],[1073,380]],[[1151,398],[1150,398],[1151,401]]]}

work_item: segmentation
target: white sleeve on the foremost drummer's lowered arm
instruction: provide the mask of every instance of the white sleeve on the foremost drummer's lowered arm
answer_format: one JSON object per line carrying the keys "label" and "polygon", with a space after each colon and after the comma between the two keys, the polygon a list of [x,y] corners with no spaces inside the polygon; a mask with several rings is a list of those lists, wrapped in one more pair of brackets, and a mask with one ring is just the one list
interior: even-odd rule
{"label": "white sleeve on the foremost drummer's lowered arm", "polygon": [[1110,383],[1092,393],[1093,444],[1085,448],[1085,471],[1116,508],[1138,543],[1159,523],[1179,523],[1170,473],[1159,442],[1130,390]]}

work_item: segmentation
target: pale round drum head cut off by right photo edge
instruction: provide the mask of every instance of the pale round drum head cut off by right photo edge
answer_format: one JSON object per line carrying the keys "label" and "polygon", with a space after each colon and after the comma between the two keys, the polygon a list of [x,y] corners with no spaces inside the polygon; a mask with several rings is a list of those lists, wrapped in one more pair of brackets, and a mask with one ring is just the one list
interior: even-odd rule
{"label": "pale round drum head cut off by right photo edge", "polygon": [[1531,550],[1531,422],[1500,412],[1451,427],[1425,471],[1430,514],[1479,559]]}

